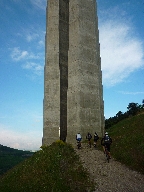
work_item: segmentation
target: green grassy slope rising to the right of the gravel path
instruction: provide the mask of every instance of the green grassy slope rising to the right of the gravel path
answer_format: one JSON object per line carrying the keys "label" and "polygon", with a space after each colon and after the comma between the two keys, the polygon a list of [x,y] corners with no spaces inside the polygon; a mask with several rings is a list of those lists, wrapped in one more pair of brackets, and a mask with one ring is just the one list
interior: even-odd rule
{"label": "green grassy slope rising to the right of the gravel path", "polygon": [[113,139],[112,156],[144,174],[144,114],[126,118],[108,132]]}

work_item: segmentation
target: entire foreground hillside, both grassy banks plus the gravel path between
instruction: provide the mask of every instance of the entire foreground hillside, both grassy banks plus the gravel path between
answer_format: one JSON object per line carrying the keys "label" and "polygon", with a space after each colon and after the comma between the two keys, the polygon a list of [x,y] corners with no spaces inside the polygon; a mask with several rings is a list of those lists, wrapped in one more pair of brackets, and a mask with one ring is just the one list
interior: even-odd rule
{"label": "entire foreground hillside, both grassy banks plus the gravel path between", "polygon": [[[103,152],[86,143],[77,150],[58,141],[9,170],[0,180],[0,191],[143,191],[144,114],[126,118],[107,131],[113,139],[110,163]],[[100,139],[97,144],[102,149]]]}

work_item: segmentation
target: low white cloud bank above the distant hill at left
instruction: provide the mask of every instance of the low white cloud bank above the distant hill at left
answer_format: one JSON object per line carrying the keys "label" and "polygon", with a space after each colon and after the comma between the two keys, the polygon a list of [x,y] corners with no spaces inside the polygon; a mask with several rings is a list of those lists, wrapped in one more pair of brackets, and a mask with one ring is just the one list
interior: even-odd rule
{"label": "low white cloud bank above the distant hill at left", "polygon": [[38,131],[16,132],[0,124],[0,144],[15,149],[38,150],[42,145],[42,134]]}

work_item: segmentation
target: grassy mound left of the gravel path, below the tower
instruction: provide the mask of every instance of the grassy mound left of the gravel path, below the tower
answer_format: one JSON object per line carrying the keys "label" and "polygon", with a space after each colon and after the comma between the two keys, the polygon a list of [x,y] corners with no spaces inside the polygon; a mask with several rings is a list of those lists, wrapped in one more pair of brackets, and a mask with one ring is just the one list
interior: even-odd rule
{"label": "grassy mound left of the gravel path, below the tower", "polygon": [[57,141],[41,149],[1,178],[1,192],[94,190],[94,183],[70,144]]}

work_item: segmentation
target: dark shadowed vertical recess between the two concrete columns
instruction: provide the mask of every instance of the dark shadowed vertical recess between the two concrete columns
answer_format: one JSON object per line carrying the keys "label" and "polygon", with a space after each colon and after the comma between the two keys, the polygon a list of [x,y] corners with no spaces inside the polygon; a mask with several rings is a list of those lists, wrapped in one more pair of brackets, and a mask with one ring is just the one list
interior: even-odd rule
{"label": "dark shadowed vertical recess between the two concrete columns", "polygon": [[59,0],[60,139],[67,136],[69,0]]}

